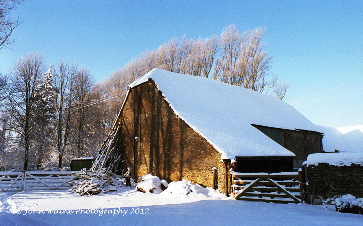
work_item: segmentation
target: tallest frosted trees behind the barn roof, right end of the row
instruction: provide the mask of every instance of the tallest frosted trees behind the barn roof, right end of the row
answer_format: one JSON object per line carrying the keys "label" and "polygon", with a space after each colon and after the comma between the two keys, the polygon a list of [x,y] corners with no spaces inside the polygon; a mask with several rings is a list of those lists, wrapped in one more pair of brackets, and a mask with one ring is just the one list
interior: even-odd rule
{"label": "tallest frosted trees behind the barn roof, right end of the row", "polygon": [[276,97],[282,99],[289,85],[278,83],[277,76],[270,77],[272,56],[264,51],[265,33],[266,27],[243,33],[235,24],[224,27],[213,78],[260,93],[268,93],[272,88]]}

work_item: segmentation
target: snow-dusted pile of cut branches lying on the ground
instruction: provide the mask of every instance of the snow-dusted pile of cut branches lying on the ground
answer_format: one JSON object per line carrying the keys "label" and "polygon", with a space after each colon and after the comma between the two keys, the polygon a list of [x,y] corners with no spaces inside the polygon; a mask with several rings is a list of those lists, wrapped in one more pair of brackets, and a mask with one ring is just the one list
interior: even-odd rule
{"label": "snow-dusted pile of cut branches lying on the ground", "polygon": [[118,186],[122,186],[123,181],[119,180],[119,175],[107,172],[106,169],[84,170],[82,173],[74,173],[77,177],[69,181],[74,184],[72,191],[80,195],[95,195],[101,192],[116,191]]}

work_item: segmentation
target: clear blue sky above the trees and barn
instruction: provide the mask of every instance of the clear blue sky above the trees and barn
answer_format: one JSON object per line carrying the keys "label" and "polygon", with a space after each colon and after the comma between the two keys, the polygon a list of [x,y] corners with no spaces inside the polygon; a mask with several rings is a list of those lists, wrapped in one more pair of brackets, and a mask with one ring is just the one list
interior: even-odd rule
{"label": "clear blue sky above the trees and barn", "polygon": [[170,37],[268,28],[272,73],[289,82],[284,101],[315,124],[363,124],[363,1],[26,1],[12,50],[0,53],[7,73],[27,52],[78,62],[97,81],[132,56]]}

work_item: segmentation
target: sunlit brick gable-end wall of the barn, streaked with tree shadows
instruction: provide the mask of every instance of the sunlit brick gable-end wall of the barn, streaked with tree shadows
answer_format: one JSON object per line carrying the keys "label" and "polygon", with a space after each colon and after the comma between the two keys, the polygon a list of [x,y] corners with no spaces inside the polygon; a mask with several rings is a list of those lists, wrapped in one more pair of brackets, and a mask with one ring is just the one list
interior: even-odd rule
{"label": "sunlit brick gable-end wall of the barn, streaked with tree shadows", "polygon": [[123,168],[130,167],[132,177],[152,173],[168,182],[187,179],[211,186],[215,166],[224,192],[221,155],[174,114],[151,82],[132,89],[121,120]]}

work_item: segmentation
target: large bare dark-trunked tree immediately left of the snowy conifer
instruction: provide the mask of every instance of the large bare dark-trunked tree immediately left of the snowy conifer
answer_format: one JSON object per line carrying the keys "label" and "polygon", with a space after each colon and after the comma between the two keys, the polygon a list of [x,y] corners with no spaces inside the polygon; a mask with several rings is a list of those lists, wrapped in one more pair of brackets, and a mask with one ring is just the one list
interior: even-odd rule
{"label": "large bare dark-trunked tree immediately left of the snowy conifer", "polygon": [[34,94],[41,74],[45,68],[43,57],[39,53],[29,53],[19,58],[10,77],[8,112],[12,121],[9,126],[14,134],[14,140],[24,150],[24,170],[28,169],[30,144],[32,141],[32,106]]}

